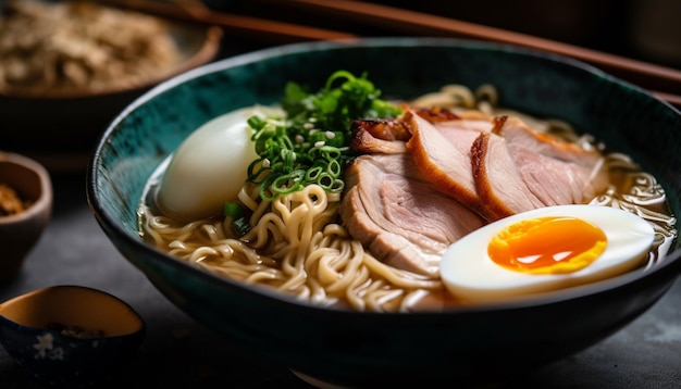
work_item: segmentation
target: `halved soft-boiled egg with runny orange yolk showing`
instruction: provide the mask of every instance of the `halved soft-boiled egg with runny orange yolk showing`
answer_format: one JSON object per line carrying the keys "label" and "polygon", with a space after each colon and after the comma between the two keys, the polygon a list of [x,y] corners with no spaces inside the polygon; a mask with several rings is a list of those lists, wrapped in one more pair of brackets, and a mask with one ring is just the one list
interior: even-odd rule
{"label": "halved soft-boiled egg with runny orange yolk showing", "polygon": [[441,262],[462,302],[499,303],[614,277],[647,259],[655,231],[640,216],[604,205],[519,213],[453,243]]}

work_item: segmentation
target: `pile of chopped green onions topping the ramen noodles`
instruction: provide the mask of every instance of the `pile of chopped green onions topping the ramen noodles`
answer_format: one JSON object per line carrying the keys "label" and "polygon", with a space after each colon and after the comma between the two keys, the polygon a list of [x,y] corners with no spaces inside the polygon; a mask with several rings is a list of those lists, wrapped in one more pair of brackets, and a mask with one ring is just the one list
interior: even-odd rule
{"label": "pile of chopped green onions topping the ramen noodles", "polygon": [[260,185],[260,197],[274,200],[310,184],[340,192],[343,172],[354,158],[348,147],[356,118],[396,117],[401,109],[381,100],[367,79],[337,71],[317,93],[290,81],[282,100],[284,117],[251,116],[259,158],[248,167],[248,180]]}

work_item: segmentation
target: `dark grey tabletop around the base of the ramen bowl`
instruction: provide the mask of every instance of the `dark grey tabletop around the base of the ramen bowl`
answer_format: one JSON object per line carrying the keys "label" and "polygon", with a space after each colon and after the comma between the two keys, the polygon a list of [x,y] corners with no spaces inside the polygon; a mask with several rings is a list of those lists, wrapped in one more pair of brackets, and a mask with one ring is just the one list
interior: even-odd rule
{"label": "dark grey tabletop around the base of the ramen bowl", "polygon": [[[156,388],[309,388],[286,366],[240,350],[171,304],[113,247],[85,199],[85,177],[52,177],[54,212],[22,274],[0,301],[52,285],[83,285],[129,303],[147,323],[139,351],[104,385]],[[649,311],[604,341],[508,388],[681,387],[681,281]],[[455,382],[453,382],[454,385]],[[0,348],[0,388],[39,386]]]}

